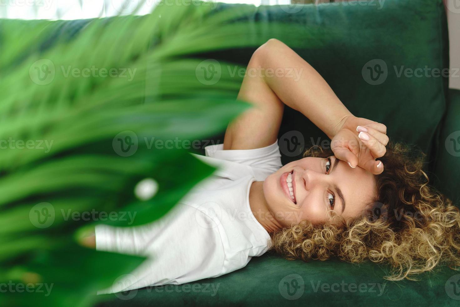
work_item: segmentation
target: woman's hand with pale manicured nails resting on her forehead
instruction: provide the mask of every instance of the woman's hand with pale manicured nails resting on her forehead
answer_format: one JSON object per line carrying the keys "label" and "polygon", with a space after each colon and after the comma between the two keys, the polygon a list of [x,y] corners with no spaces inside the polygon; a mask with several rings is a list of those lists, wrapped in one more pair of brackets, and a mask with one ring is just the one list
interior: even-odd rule
{"label": "woman's hand with pale manicured nails resting on her forehead", "polygon": [[347,116],[331,140],[331,149],[352,168],[359,166],[378,175],[383,172],[383,163],[375,159],[385,155],[388,140],[384,124]]}

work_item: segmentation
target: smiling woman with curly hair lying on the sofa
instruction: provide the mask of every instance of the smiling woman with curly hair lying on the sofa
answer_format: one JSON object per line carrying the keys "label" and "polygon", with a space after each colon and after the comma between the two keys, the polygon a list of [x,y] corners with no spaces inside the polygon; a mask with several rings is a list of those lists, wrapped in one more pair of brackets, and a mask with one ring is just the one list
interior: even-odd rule
{"label": "smiling woman with curly hair lying on the sofa", "polygon": [[[299,80],[282,74],[291,69]],[[82,241],[149,257],[100,293],[217,277],[269,249],[304,261],[388,261],[393,280],[460,264],[459,210],[427,185],[423,156],[389,143],[385,125],[353,116],[288,46],[270,39],[254,52],[238,99],[255,107],[229,125],[223,145],[195,155],[219,167],[211,178],[159,221],[100,225]],[[284,104],[328,135],[331,152],[312,149],[282,166]]]}

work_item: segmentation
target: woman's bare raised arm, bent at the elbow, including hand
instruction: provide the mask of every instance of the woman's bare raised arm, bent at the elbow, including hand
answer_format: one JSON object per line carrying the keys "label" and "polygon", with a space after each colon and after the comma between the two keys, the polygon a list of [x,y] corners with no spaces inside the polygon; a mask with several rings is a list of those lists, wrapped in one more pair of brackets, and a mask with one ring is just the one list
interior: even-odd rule
{"label": "woman's bare raised arm, bent at the elbow, including hand", "polygon": [[[227,127],[226,150],[273,144],[286,104],[304,114],[335,142],[331,147],[339,159],[349,162],[351,167],[360,165],[374,174],[383,170],[377,168],[375,158],[385,154],[388,142],[385,125],[353,116],[322,76],[279,40],[270,39],[253,53],[237,98],[251,102],[255,107]],[[358,125],[365,126],[364,130],[360,128],[364,132],[359,137]],[[355,133],[356,137],[343,133],[343,129]],[[334,139],[339,131],[342,131],[340,139]],[[350,142],[357,147],[349,148]],[[364,146],[367,146],[367,152],[362,148]]]}

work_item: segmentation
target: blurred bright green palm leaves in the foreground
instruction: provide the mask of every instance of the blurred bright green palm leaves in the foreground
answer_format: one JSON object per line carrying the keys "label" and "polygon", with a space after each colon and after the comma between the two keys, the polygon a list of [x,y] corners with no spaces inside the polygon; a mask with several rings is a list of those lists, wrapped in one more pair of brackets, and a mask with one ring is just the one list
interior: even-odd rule
{"label": "blurred bright green palm leaves in the foreground", "polygon": [[[247,24],[236,21],[250,10],[195,1],[142,17],[0,20],[1,306],[92,306],[97,290],[143,261],[83,248],[75,233],[152,222],[212,174],[184,149],[148,140],[204,139],[250,106],[236,100],[241,76],[223,68],[210,84],[213,64],[191,56],[263,43],[242,39]],[[137,150],[125,154],[118,141]],[[140,200],[134,188],[148,177],[159,190]],[[136,218],[67,214],[94,210]]]}

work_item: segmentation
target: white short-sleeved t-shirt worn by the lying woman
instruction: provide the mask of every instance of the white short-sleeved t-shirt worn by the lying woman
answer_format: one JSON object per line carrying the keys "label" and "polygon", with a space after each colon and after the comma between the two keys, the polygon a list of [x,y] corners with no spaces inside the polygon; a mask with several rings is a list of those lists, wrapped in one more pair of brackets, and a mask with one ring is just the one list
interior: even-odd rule
{"label": "white short-sleeved t-shirt worn by the lying woman", "polygon": [[267,251],[270,235],[249,207],[249,189],[281,168],[278,144],[223,147],[209,145],[206,156],[192,154],[218,170],[160,220],[135,227],[96,226],[96,249],[148,257],[98,294],[217,277]]}

